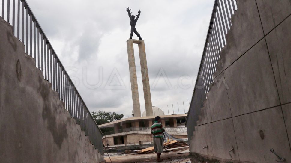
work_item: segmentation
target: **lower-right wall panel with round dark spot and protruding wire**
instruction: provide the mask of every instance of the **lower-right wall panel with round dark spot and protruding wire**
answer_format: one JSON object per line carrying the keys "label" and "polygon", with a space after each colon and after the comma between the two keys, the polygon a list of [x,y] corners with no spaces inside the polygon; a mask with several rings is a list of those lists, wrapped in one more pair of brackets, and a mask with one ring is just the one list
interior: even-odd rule
{"label": "lower-right wall panel with round dark spot and protruding wire", "polygon": [[277,157],[270,148],[291,160],[281,107],[275,107],[233,118],[240,160],[271,163]]}

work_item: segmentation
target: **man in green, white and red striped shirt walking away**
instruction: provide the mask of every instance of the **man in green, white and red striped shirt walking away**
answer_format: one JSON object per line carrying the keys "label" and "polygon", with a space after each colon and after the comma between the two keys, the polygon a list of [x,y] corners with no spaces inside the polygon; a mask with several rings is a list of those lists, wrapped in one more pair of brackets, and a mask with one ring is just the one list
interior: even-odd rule
{"label": "man in green, white and red striped shirt walking away", "polygon": [[157,116],[155,117],[155,123],[152,125],[152,134],[154,139],[154,150],[155,153],[157,153],[158,162],[163,161],[161,159],[161,153],[164,152],[164,138],[163,138],[163,132],[165,131],[162,123],[161,123],[161,117]]}

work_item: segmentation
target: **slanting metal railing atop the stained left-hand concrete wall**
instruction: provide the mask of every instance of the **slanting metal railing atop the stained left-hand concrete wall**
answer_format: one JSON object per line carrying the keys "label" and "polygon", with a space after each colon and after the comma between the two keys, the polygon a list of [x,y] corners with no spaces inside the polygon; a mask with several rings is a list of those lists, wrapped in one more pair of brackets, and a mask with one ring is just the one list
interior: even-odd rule
{"label": "slanting metal railing atop the stained left-hand concrete wall", "polygon": [[70,116],[80,124],[95,148],[103,153],[101,130],[27,2],[2,0],[0,3],[1,17],[12,25],[15,37],[25,46],[25,52],[35,59],[35,66],[43,71],[44,79],[52,84],[53,90],[58,92]]}

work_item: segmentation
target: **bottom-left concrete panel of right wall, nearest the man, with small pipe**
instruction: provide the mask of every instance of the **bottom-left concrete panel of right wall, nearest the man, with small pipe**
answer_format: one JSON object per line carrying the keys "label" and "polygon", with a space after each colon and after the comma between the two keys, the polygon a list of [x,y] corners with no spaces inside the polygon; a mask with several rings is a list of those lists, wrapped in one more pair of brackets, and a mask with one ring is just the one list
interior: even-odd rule
{"label": "bottom-left concrete panel of right wall, nearest the man, with small pipe", "polygon": [[193,137],[194,138],[190,143],[191,153],[200,153],[207,156],[213,156],[208,124],[197,126]]}

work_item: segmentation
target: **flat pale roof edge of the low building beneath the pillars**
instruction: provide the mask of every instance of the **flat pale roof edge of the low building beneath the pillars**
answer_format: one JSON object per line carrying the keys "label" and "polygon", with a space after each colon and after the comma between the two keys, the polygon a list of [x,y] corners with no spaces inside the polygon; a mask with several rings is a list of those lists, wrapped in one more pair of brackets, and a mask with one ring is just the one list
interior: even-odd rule
{"label": "flat pale roof edge of the low building beneath the pillars", "polygon": [[[169,119],[177,119],[177,118],[184,118],[187,117],[187,114],[174,114],[174,115],[161,115],[161,119],[169,120]],[[118,125],[118,123],[131,123],[131,122],[136,122],[140,120],[150,120],[150,119],[155,119],[155,116],[149,116],[149,117],[129,117],[121,120],[116,120],[113,122],[105,123],[102,125],[98,125],[100,128],[105,128],[105,127],[114,127],[115,125]]]}

